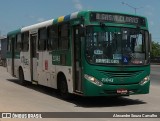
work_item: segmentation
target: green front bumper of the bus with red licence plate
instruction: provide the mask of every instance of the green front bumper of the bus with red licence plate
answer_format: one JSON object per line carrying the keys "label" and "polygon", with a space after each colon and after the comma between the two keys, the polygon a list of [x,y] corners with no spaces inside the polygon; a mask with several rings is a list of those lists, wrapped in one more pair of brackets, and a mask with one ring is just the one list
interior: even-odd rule
{"label": "green front bumper of the bus with red licence plate", "polygon": [[84,96],[128,96],[128,95],[136,95],[136,94],[148,94],[149,88],[150,88],[150,81],[148,81],[144,85],[103,84],[102,86],[98,86],[85,80]]}

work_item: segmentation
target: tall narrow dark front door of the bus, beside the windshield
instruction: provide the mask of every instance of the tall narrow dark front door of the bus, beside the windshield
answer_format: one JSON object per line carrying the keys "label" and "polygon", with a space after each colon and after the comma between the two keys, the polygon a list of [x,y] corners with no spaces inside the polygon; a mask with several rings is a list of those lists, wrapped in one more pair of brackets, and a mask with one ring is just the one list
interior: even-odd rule
{"label": "tall narrow dark front door of the bus, beside the windshield", "polygon": [[74,27],[74,89],[76,92],[82,92],[82,62],[81,62],[81,37],[79,26]]}

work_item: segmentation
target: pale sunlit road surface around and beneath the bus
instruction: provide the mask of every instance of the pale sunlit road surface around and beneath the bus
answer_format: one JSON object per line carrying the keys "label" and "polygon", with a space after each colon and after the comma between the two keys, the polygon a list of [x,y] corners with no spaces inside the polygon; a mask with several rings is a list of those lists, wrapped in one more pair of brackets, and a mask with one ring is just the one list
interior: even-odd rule
{"label": "pale sunlit road surface around and beneath the bus", "polygon": [[[74,96],[62,100],[55,90],[28,84],[18,84],[6,69],[0,67],[0,112],[160,112],[160,66],[151,67],[151,88],[147,95],[134,95],[121,98],[84,98]],[[23,119],[34,121],[34,119]],[[23,121],[22,119],[0,119],[0,121]],[[36,121],[137,121],[129,118],[88,118],[88,119],[35,119]],[[141,119],[159,121],[159,119]]]}

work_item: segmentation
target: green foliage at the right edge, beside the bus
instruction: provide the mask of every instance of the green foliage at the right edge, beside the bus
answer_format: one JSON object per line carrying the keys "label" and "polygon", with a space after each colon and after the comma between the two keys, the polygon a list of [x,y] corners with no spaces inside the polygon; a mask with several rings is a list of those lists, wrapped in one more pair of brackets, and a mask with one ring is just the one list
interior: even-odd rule
{"label": "green foliage at the right edge, beside the bus", "polygon": [[160,44],[158,42],[152,41],[152,51],[151,58],[160,56]]}

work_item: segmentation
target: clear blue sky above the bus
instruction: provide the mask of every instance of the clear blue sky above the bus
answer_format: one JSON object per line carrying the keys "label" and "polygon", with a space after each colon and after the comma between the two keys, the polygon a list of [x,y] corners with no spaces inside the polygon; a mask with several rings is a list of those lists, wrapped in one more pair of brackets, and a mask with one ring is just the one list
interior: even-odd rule
{"label": "clear blue sky above the bus", "polygon": [[135,14],[134,8],[147,17],[152,40],[160,43],[160,0],[0,0],[0,35],[76,11]]}

